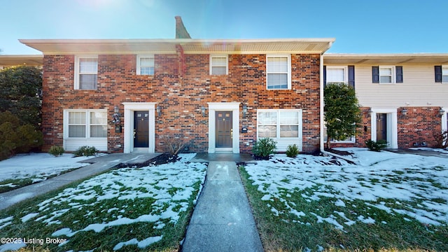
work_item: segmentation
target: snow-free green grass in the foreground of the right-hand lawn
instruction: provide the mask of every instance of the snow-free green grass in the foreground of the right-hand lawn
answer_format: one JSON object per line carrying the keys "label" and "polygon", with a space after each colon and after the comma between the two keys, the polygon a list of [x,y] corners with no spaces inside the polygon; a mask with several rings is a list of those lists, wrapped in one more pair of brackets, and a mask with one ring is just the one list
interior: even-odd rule
{"label": "snow-free green grass in the foreground of the right-hand lawn", "polygon": [[[302,197],[313,195],[313,191],[323,185],[305,190],[281,191],[281,199],[286,199],[287,194],[291,195],[288,197],[288,202],[292,202],[290,204],[294,204],[295,209],[304,212],[305,216],[298,218],[290,213],[281,199],[261,200],[264,194],[257,186],[252,185],[253,181],[244,167],[239,167],[239,172],[265,251],[302,251],[305,248],[317,251],[318,246],[325,248],[324,251],[448,251],[447,225],[423,225],[409,216],[388,214],[371,206],[385,202],[384,204],[393,206],[394,209],[405,208],[404,204],[397,204],[395,200],[379,199],[377,202],[353,200],[345,201],[346,207],[337,207],[336,200],[332,197],[320,197],[321,200],[318,201]],[[434,201],[441,200],[434,199]],[[407,203],[416,205],[419,202]],[[279,216],[274,216],[272,207],[279,211]],[[334,216],[338,223],[347,221],[335,211],[343,213],[346,218],[356,223],[343,225],[343,230],[339,230],[326,221],[318,222],[317,216]],[[359,216],[371,217],[375,223],[362,223],[358,221]]]}

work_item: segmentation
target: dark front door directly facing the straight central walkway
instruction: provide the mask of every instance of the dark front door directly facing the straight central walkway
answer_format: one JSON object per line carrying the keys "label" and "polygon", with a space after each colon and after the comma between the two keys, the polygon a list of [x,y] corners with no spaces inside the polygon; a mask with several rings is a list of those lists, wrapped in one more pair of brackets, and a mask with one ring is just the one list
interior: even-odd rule
{"label": "dark front door directly facing the straight central walkway", "polygon": [[216,148],[232,148],[232,111],[216,111]]}

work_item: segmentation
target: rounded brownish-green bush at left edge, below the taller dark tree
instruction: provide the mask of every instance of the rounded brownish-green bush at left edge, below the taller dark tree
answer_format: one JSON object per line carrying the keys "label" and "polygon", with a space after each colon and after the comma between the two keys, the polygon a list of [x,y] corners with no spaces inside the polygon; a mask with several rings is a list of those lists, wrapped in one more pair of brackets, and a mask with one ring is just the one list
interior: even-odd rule
{"label": "rounded brownish-green bush at left edge, below the taller dark tree", "polygon": [[0,160],[15,153],[27,153],[42,143],[42,132],[33,125],[21,125],[18,117],[8,111],[0,113]]}

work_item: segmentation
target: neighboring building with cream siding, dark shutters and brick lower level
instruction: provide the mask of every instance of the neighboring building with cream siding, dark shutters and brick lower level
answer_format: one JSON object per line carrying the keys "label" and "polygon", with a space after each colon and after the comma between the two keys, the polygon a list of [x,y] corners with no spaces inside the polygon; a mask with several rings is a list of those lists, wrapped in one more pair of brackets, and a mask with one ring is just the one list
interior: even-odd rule
{"label": "neighboring building with cream siding, dark shutters and brick lower level", "polygon": [[333,146],[435,146],[433,134],[448,129],[448,54],[325,54],[323,62],[325,82],[352,83],[363,111],[361,133]]}

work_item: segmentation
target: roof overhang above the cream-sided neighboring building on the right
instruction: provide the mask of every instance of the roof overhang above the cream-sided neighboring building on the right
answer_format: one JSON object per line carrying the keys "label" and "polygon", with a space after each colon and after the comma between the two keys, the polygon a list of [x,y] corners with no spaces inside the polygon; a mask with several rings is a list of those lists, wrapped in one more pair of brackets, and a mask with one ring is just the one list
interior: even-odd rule
{"label": "roof overhang above the cream-sided neighboring building on the right", "polygon": [[324,64],[448,64],[448,53],[325,53]]}

